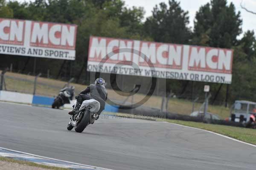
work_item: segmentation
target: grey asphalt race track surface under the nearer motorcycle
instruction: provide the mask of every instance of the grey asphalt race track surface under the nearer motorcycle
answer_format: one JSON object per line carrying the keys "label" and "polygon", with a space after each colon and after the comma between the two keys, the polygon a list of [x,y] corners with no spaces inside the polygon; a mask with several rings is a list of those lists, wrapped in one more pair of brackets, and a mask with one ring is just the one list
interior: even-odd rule
{"label": "grey asphalt race track surface under the nearer motorcycle", "polygon": [[256,147],[205,131],[108,116],[76,133],[68,120],[65,110],[0,103],[0,147],[114,170],[256,167]]}

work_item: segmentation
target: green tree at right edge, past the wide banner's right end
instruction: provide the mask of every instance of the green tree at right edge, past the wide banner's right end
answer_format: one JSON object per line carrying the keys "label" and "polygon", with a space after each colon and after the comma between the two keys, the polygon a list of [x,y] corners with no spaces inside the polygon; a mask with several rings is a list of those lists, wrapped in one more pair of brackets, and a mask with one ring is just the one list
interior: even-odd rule
{"label": "green tree at right edge, past the wide banner's right end", "polygon": [[256,38],[253,31],[244,33],[234,48],[231,98],[255,101]]}

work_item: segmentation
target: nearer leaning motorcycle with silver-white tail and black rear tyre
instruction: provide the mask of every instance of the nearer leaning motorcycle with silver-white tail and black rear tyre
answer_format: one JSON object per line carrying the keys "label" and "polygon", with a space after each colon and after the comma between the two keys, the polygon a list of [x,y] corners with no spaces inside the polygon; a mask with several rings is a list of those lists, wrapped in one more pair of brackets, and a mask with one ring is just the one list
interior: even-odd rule
{"label": "nearer leaning motorcycle with silver-white tail and black rear tyre", "polygon": [[[73,109],[76,107],[76,103],[77,102],[75,101]],[[83,132],[88,124],[93,124],[94,121],[99,118],[99,115],[97,114],[99,109],[99,101],[96,101],[95,99],[83,101],[78,114],[70,116],[70,121],[67,124],[67,130],[72,130],[73,127],[75,127],[76,132]]]}

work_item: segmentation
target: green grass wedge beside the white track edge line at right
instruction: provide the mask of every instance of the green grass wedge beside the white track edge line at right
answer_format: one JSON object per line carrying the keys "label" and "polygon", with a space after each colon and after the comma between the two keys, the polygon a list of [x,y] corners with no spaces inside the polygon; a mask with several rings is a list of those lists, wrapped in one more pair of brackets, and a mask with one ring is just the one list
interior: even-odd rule
{"label": "green grass wedge beside the white track edge line at right", "polygon": [[215,133],[219,133],[221,135],[226,135],[231,138],[235,138],[240,141],[244,141],[244,142],[256,145],[256,129],[247,129],[247,128],[231,127],[231,126],[224,126],[224,125],[218,125],[218,124],[205,124],[205,123],[198,123],[198,122],[192,122],[192,121],[179,121],[179,120],[170,120],[170,119],[166,119],[164,121],[175,123],[175,124],[181,124],[189,127],[196,127],[199,129],[209,130]]}

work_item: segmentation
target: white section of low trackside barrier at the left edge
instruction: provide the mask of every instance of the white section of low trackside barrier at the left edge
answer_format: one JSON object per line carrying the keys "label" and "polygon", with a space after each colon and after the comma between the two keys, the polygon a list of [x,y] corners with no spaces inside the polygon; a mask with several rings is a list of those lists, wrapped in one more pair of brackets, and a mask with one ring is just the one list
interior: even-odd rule
{"label": "white section of low trackside barrier at the left edge", "polygon": [[1,101],[11,101],[17,103],[32,104],[33,95],[19,92],[0,91]]}

